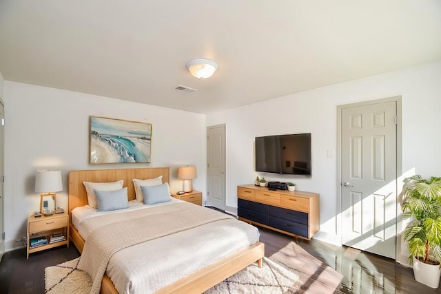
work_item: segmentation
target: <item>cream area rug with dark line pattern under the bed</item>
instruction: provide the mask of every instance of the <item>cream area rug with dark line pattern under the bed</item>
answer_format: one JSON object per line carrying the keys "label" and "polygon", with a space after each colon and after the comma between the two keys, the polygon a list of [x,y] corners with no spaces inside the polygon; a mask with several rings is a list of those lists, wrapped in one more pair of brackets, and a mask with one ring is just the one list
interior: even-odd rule
{"label": "cream area rug with dark line pattern under the bed", "polygon": [[[45,293],[89,293],[92,279],[76,266],[79,258],[45,269]],[[334,293],[342,275],[291,242],[256,264],[220,282],[206,294]]]}

